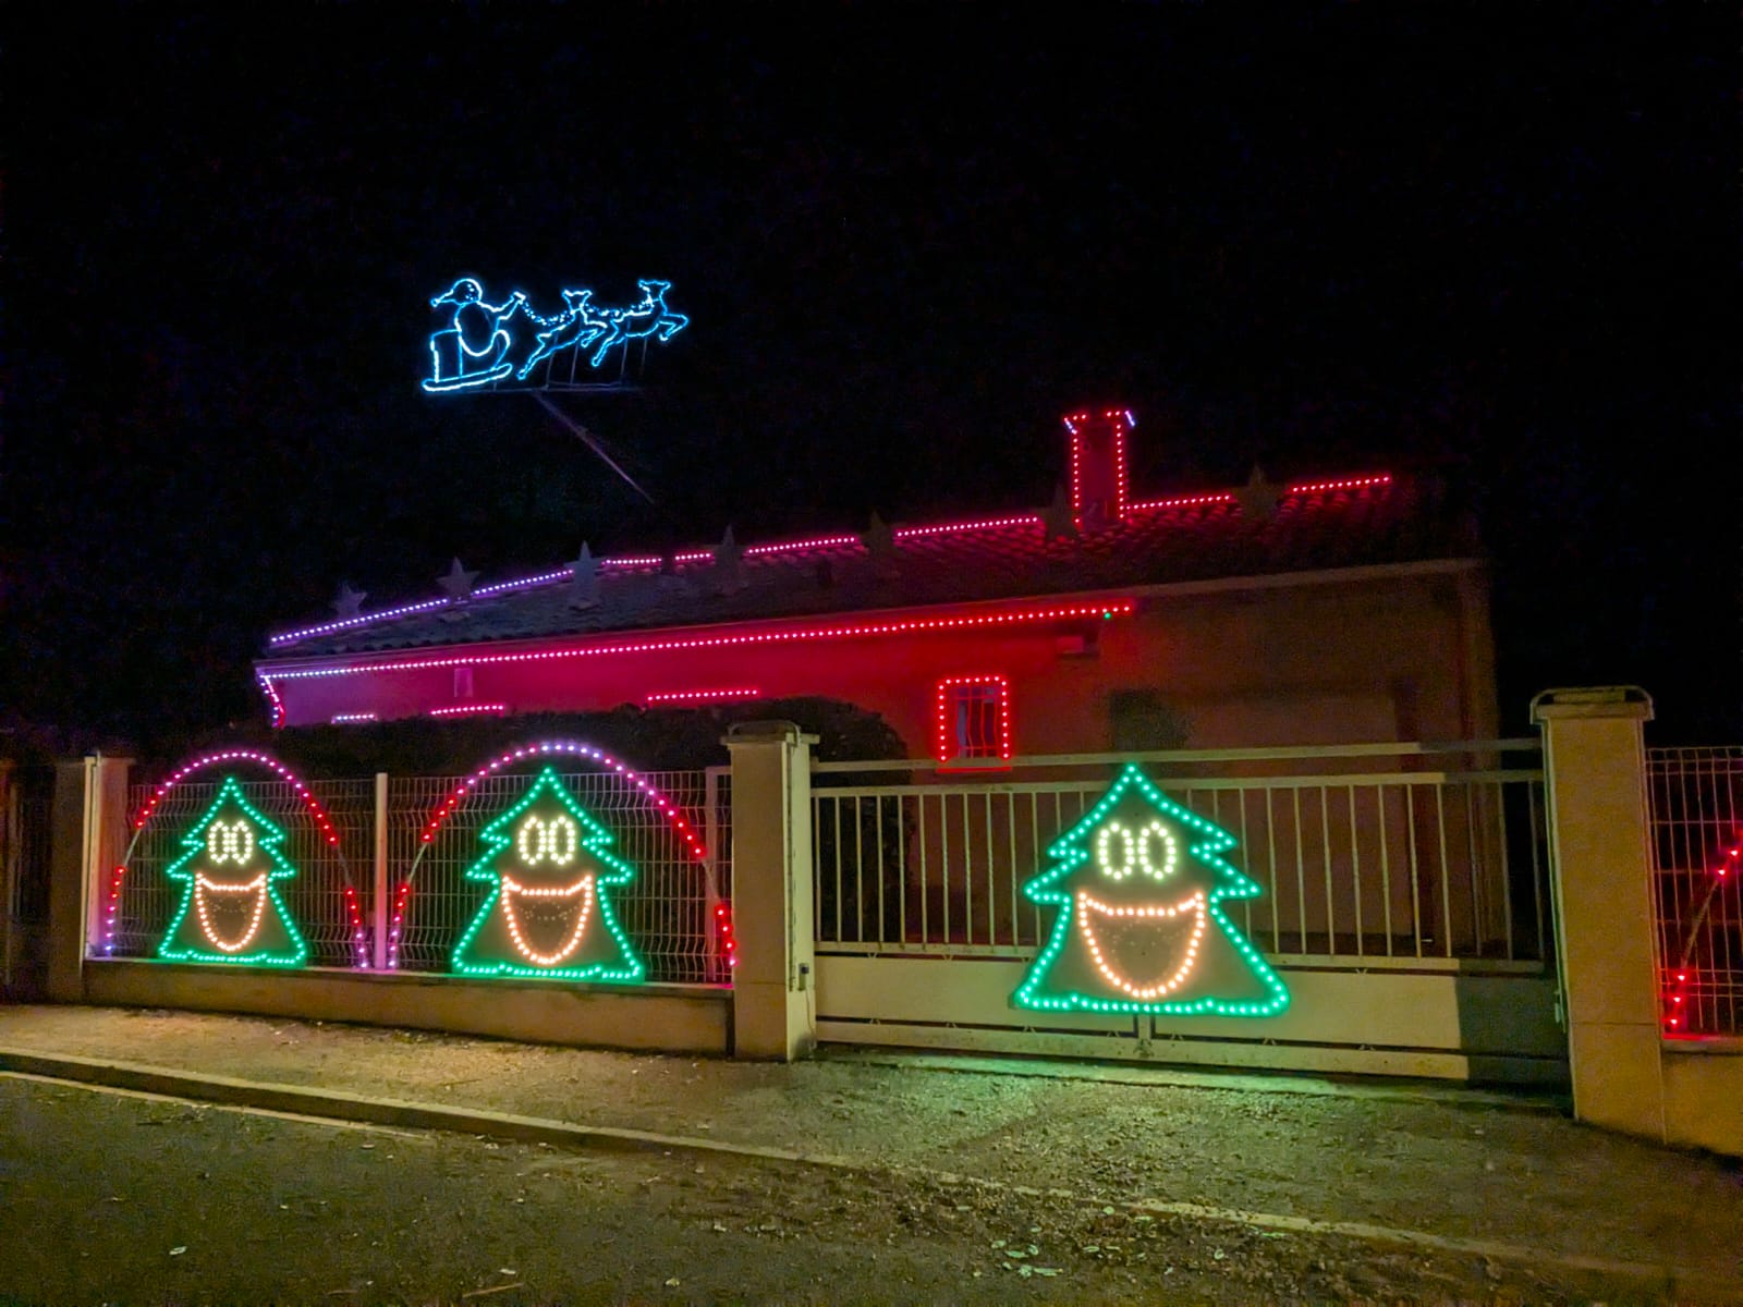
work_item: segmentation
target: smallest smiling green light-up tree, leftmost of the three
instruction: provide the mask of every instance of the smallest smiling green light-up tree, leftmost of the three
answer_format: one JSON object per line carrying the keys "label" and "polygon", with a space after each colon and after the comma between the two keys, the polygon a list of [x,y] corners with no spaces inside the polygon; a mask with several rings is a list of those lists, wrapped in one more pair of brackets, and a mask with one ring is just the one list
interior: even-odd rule
{"label": "smallest smiling green light-up tree, leftmost of the three", "polygon": [[188,852],[164,870],[183,889],[157,955],[167,962],[303,965],[309,943],[277,889],[279,880],[296,875],[281,843],[284,831],[227,775],[211,807],[181,836]]}

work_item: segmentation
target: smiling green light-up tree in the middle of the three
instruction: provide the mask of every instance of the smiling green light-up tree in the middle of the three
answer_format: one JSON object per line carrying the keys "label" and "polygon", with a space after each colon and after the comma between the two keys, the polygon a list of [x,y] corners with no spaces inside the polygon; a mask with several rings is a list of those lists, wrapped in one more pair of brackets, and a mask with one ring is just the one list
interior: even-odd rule
{"label": "smiling green light-up tree in the middle of the three", "polygon": [[532,788],[479,831],[486,854],[467,880],[492,885],[453,950],[465,976],[633,983],[645,976],[612,899],[634,868],[546,767]]}

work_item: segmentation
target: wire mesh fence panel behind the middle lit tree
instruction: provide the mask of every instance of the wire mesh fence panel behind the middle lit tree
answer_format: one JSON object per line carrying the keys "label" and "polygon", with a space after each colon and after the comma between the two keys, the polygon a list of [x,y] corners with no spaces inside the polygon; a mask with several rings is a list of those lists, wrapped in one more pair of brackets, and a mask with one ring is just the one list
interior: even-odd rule
{"label": "wire mesh fence panel behind the middle lit tree", "polygon": [[[387,786],[387,861],[392,882],[389,965],[399,971],[450,971],[455,945],[490,894],[465,873],[492,852],[485,826],[514,805],[535,774],[472,777],[471,791],[439,826],[431,843],[431,814],[455,795],[458,775],[390,777]],[[704,772],[643,772],[695,831],[704,831]],[[647,967],[647,979],[718,983],[725,979],[716,946],[713,868],[697,859],[671,819],[648,795],[615,772],[563,772],[563,788],[612,836],[610,854],[634,875],[610,891],[612,911]]]}

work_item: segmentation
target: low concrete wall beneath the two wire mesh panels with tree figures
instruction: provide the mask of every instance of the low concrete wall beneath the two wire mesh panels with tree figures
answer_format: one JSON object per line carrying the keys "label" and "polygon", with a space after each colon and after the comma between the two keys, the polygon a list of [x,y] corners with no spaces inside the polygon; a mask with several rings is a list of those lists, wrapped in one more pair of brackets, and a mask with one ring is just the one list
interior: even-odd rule
{"label": "low concrete wall beneath the two wire mesh panels with tree figures", "polygon": [[725,1056],[732,990],[626,988],[368,971],[87,960],[84,1002],[413,1026],[540,1044]]}

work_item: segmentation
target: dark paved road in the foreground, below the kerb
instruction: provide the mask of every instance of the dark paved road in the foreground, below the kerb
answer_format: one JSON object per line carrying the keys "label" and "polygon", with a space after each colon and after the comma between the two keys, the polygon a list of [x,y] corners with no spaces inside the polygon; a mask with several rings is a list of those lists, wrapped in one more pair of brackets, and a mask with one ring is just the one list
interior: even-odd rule
{"label": "dark paved road in the foreground, below the kerb", "polygon": [[10,1075],[0,1204],[0,1298],[33,1304],[1670,1300],[1007,1185],[570,1154]]}

